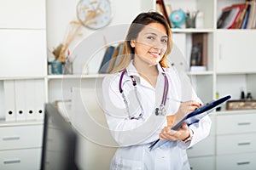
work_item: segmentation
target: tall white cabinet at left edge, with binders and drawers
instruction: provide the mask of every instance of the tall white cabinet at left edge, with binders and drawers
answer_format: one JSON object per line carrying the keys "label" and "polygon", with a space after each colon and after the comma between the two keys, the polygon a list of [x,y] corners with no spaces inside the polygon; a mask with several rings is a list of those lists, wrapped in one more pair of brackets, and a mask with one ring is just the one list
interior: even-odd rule
{"label": "tall white cabinet at left edge, with binders and drawers", "polygon": [[[45,0],[0,3],[0,169],[39,170],[47,89]],[[5,122],[9,114],[14,119]],[[15,122],[18,114],[23,121]]]}

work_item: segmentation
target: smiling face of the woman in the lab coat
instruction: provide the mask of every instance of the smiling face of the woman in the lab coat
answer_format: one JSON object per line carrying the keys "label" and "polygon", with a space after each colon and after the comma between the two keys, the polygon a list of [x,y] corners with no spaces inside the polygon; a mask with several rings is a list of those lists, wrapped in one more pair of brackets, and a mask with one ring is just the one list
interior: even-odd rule
{"label": "smiling face of the woman in the lab coat", "polygon": [[139,32],[136,40],[131,40],[136,62],[157,65],[166,53],[167,43],[168,36],[165,26],[160,23],[148,24]]}

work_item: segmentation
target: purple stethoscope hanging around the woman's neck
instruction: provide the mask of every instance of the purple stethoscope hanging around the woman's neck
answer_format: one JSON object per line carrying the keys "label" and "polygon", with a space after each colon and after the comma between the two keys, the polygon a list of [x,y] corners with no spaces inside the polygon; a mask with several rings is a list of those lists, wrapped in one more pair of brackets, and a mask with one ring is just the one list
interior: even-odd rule
{"label": "purple stethoscope hanging around the woman's neck", "polygon": [[[137,102],[139,104],[141,112],[140,112],[140,114],[138,116],[135,116],[135,115],[131,115],[131,113],[129,111],[128,101],[125,98],[124,90],[122,89],[122,82],[123,82],[125,73],[127,73],[126,70],[122,71],[120,79],[119,79],[119,92],[120,92],[120,94],[122,95],[122,97],[124,99],[125,109],[126,109],[126,112],[128,113],[128,118],[131,119],[131,120],[132,119],[136,119],[136,120],[143,119],[143,105],[142,105],[142,103],[140,102],[140,100],[138,98],[138,95],[137,95],[137,82],[136,82],[136,80],[135,80],[135,78],[133,76],[130,76],[130,77],[131,77],[132,86],[133,86],[133,88],[135,90]],[[166,115],[166,99],[167,99],[167,94],[168,94],[168,89],[169,89],[169,82],[168,82],[168,78],[166,76],[166,73],[163,72],[162,74],[163,74],[163,76],[165,78],[165,87],[164,87],[164,92],[163,92],[163,95],[162,95],[161,104],[160,104],[159,107],[155,108],[155,110],[154,110],[154,113],[155,113],[156,116],[165,116]]]}

